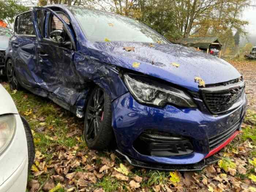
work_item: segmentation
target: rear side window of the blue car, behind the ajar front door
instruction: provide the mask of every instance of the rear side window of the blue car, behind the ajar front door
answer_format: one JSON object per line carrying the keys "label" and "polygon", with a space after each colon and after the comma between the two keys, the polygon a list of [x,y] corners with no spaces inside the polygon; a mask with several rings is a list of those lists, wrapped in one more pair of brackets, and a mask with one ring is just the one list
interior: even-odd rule
{"label": "rear side window of the blue car, behind the ajar front door", "polygon": [[19,15],[18,34],[35,35],[31,11]]}

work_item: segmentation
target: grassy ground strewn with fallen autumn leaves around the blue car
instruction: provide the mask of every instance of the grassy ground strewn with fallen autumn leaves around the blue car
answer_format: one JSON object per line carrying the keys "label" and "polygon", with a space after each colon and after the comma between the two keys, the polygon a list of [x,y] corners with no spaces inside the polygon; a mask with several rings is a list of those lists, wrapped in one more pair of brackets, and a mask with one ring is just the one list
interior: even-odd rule
{"label": "grassy ground strewn with fallen autumn leaves around the blue car", "polygon": [[[248,98],[253,99],[256,74],[251,70],[256,68],[256,63],[232,63],[242,69],[249,85],[246,89]],[[247,77],[248,74],[251,76]],[[112,151],[89,150],[82,140],[83,120],[49,99],[25,90],[11,92],[8,84],[4,87],[33,130],[36,157],[27,191],[256,192],[256,112],[253,100],[249,101],[241,133],[217,154],[221,158],[218,163],[202,172],[169,173],[132,167]]]}

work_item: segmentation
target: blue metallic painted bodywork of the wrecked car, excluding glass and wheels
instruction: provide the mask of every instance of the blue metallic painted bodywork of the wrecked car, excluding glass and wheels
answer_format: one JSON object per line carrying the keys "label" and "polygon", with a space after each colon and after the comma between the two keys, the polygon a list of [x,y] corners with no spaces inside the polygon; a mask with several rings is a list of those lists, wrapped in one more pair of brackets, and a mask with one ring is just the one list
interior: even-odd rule
{"label": "blue metallic painted bodywork of the wrecked car, excluding glass and wheels", "polygon": [[[14,61],[19,82],[34,94],[49,97],[78,117],[83,116],[91,87],[95,84],[102,87],[113,100],[112,125],[118,148],[133,158],[167,164],[199,162],[209,152],[208,137],[225,129],[231,114],[238,113],[236,111],[241,108],[242,112],[239,111],[238,115],[244,113],[245,98],[239,109],[220,116],[212,116],[198,98],[194,98],[198,109],[141,105],[128,93],[120,69],[154,76],[195,92],[199,92],[195,76],[201,77],[206,84],[212,84],[236,79],[241,75],[222,59],[180,45],[154,44],[152,47],[138,42],[90,42],[66,6],[51,5],[47,8],[62,10],[68,15],[73,28],[67,28],[74,37],[76,49],[69,50],[46,42],[39,35],[36,15],[33,14],[37,37],[14,35],[7,50],[7,60]],[[19,48],[15,48],[14,43]],[[126,52],[124,46],[134,46],[135,52]],[[46,55],[40,56],[39,50]],[[133,62],[139,62],[139,67],[132,67]],[[177,68],[171,63],[180,66]],[[180,157],[139,154],[132,144],[146,129],[158,129],[193,138],[195,151]]]}

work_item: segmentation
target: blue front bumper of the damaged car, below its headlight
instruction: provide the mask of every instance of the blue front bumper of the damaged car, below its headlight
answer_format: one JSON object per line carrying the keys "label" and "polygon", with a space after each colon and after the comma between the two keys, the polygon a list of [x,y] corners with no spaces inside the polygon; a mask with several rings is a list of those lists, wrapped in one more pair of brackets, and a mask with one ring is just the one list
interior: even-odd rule
{"label": "blue front bumper of the damaged car, below its headlight", "polygon": [[[146,163],[151,165],[152,168],[152,166],[159,164],[184,166],[202,162],[207,165],[208,163],[204,159],[210,157],[213,152],[217,152],[215,148],[210,148],[209,138],[214,138],[218,133],[225,132],[234,123],[237,126],[235,129],[240,129],[246,109],[246,97],[244,95],[242,105],[236,110],[219,116],[210,114],[207,108],[204,107],[202,100],[196,99],[196,102],[200,106],[200,110],[192,108],[179,109],[171,105],[157,108],[136,102],[130,93],[122,95],[112,103],[112,124],[118,150],[130,160],[134,159],[133,162],[142,162],[137,163],[137,166]],[[236,122],[234,122],[234,119],[236,119]],[[134,147],[134,142],[141,133],[148,129],[189,138],[193,144],[193,153],[165,157],[139,153]],[[226,140],[223,140],[223,143]],[[219,145],[218,150],[221,149],[220,146],[224,147]],[[145,167],[147,166],[145,165]],[[202,168],[204,165],[200,167]],[[191,170],[200,169],[197,167]]]}

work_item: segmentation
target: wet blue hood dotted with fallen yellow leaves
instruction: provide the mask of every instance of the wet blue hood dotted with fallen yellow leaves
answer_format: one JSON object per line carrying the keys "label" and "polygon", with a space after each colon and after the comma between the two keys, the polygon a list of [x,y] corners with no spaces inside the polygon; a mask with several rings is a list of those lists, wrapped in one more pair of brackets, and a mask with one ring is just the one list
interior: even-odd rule
{"label": "wet blue hood dotted with fallen yellow leaves", "polygon": [[[125,47],[134,47],[134,51],[128,52]],[[92,56],[105,63],[142,72],[192,91],[199,90],[195,77],[202,78],[206,84],[214,84],[241,76],[222,59],[176,44],[95,42],[91,49]]]}

